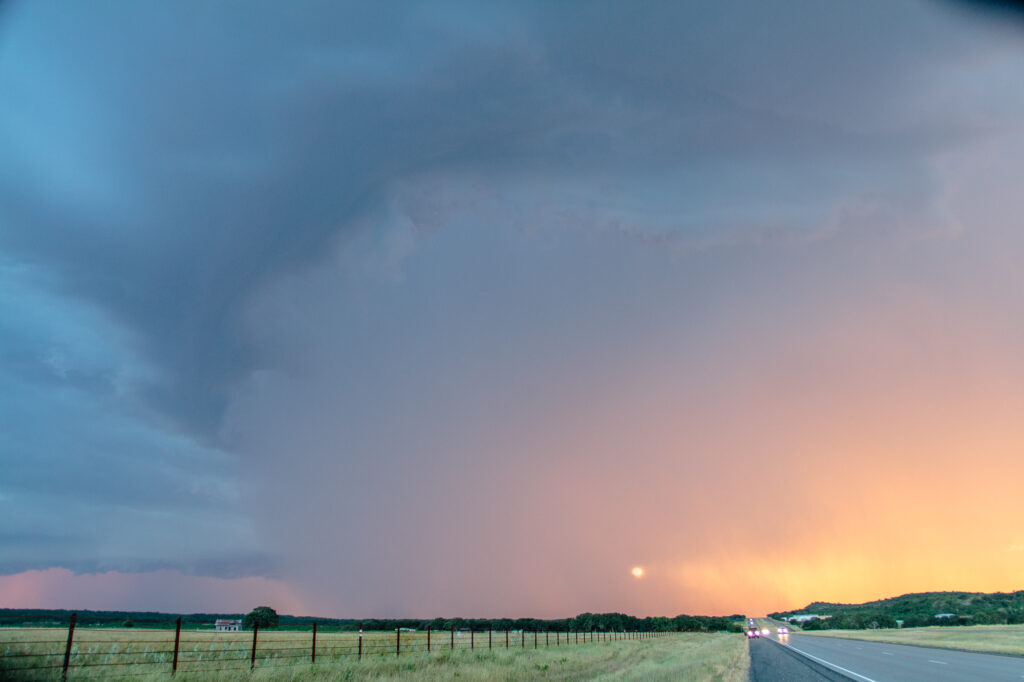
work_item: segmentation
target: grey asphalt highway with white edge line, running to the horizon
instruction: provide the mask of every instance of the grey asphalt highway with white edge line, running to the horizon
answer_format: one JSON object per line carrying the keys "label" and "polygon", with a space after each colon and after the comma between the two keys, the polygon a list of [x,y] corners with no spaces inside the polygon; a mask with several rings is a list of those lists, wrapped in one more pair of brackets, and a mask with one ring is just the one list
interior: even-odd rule
{"label": "grey asphalt highway with white edge line, running to the horizon", "polygon": [[[751,678],[771,682],[770,676],[756,676],[756,649],[765,644],[784,647],[829,671],[857,682],[1002,682],[1024,680],[1024,656],[975,653],[906,644],[885,644],[813,635],[774,634],[751,642]],[[785,677],[778,677],[784,680]],[[819,677],[818,679],[833,679]]]}

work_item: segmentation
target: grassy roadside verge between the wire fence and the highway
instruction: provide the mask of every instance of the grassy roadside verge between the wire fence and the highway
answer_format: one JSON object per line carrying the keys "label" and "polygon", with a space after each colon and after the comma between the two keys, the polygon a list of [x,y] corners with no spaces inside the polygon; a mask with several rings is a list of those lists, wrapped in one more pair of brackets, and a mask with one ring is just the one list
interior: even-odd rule
{"label": "grassy roadside verge between the wire fence and the highway", "polygon": [[[28,634],[38,634],[40,639],[49,633],[27,633],[20,634],[6,631],[3,633],[7,637],[0,637],[0,644],[3,639],[7,639],[10,644],[13,640],[24,640]],[[59,634],[59,633],[58,633]],[[119,675],[123,679],[131,676],[133,680],[166,681],[170,679],[166,650],[162,641],[153,642],[150,638],[155,633],[131,631],[105,631],[103,640],[110,642],[110,646],[99,640],[99,633],[89,633],[90,641],[83,642],[84,663],[87,667],[71,668],[69,680],[96,679],[97,671],[102,672],[103,679],[117,680]],[[129,646],[130,637],[134,635],[137,639],[135,646]],[[219,640],[218,640],[219,641]],[[114,643],[117,642],[117,646]],[[282,641],[287,644],[287,641]],[[39,642],[42,646],[44,642]],[[52,649],[49,641],[45,642],[47,650]],[[148,647],[150,653],[139,646]],[[189,647],[190,648],[190,647]],[[5,647],[13,652],[14,647]],[[152,659],[159,660],[157,668],[160,672],[152,675],[139,675],[144,670],[153,671],[154,668],[142,666],[110,666],[118,656],[124,656],[130,650],[137,649],[137,652],[130,654],[136,662]],[[176,682],[226,682],[227,680],[239,679],[240,670],[233,667],[225,670],[210,670],[211,668],[223,665],[219,658],[211,658],[215,653],[214,647],[202,644],[199,647],[203,652],[202,660],[205,665],[200,666],[199,660],[191,658],[189,665],[193,671],[186,672],[179,668]],[[91,651],[91,652],[89,652]],[[324,681],[329,680],[412,680],[418,682],[439,681],[439,680],[708,680],[721,682],[745,681],[750,668],[750,657],[745,637],[737,634],[725,633],[681,633],[671,634],[647,640],[625,640],[612,642],[595,642],[581,644],[578,646],[549,646],[542,645],[539,648],[495,648],[488,649],[456,649],[454,651],[435,650],[432,653],[426,651],[416,651],[402,653],[395,656],[391,652],[380,652],[365,654],[361,660],[356,660],[354,656],[338,656],[328,658],[323,663],[317,656],[315,666],[309,664],[299,664],[292,666],[278,666],[282,660],[257,658],[256,671],[252,674],[245,670],[245,676],[252,682],[299,682],[299,680]],[[207,662],[207,658],[211,658]],[[46,664],[52,663],[45,660]],[[247,663],[247,662],[243,662]],[[89,664],[102,666],[102,668],[91,668]],[[263,668],[261,668],[263,666]],[[204,670],[205,669],[205,670]],[[14,673],[11,670],[0,669],[0,677],[3,673],[11,675],[6,679],[59,679],[56,670],[34,670]],[[42,676],[39,674],[42,673]],[[25,675],[25,677],[16,677]]]}

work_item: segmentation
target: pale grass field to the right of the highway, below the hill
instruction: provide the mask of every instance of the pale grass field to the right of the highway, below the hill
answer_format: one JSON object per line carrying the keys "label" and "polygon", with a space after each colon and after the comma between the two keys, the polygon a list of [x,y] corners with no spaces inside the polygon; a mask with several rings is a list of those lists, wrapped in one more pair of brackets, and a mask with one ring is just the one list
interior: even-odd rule
{"label": "pale grass field to the right of the highway, below the hill", "polygon": [[1024,626],[957,626],[901,630],[818,630],[814,637],[847,637],[893,644],[925,644],[971,651],[1024,654]]}

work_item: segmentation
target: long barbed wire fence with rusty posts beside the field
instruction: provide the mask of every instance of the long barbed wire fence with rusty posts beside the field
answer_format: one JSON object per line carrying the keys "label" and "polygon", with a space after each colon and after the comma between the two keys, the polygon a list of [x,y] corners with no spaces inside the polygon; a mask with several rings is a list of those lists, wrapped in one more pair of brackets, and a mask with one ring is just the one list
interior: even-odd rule
{"label": "long barbed wire fence with rusty posts beside the field", "polygon": [[[257,669],[311,666],[317,662],[361,662],[366,658],[465,650],[538,649],[582,646],[624,640],[646,640],[673,634],[638,630],[476,630],[395,628],[391,631],[331,631],[312,623],[309,630],[182,630],[173,638],[159,630],[126,637],[123,628],[78,628],[72,613],[67,631],[18,628],[17,640],[0,640],[0,679],[131,678],[166,673],[252,672]],[[93,620],[93,625],[96,625]],[[112,624],[113,625],[113,624]],[[67,637],[65,638],[65,634]],[[59,638],[54,637],[58,635]]]}

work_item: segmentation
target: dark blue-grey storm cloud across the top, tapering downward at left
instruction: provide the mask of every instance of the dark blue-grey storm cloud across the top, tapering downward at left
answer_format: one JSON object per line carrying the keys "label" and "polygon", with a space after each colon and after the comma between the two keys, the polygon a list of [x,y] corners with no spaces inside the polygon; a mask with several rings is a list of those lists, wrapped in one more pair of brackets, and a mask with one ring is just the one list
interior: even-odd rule
{"label": "dark blue-grey storm cloud across the top, tapering downward at left", "polygon": [[239,306],[397,178],[889,156],[948,138],[951,121],[911,126],[908,113],[889,127],[872,111],[910,78],[906,57],[950,51],[927,25],[895,40],[909,7],[880,24],[821,3],[267,5],[244,17],[16,5],[2,246],[129,321],[165,370],[146,400],[210,436],[254,363]]}

